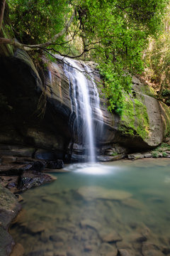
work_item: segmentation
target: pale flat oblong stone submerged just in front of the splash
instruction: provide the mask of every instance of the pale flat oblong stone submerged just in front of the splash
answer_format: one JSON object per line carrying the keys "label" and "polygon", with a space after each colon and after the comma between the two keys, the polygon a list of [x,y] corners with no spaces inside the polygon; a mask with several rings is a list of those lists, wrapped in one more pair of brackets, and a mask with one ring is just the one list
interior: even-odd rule
{"label": "pale flat oblong stone submerged just in front of the splash", "polygon": [[95,199],[122,201],[132,196],[131,193],[126,191],[107,189],[100,186],[84,186],[79,188],[77,193],[87,201]]}

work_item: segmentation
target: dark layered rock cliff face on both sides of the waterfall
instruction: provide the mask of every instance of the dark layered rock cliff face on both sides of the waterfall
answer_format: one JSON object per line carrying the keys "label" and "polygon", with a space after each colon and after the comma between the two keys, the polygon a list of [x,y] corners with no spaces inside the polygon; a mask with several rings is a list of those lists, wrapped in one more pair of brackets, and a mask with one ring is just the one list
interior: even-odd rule
{"label": "dark layered rock cliff face on both sides of the waterfall", "polygon": [[[81,139],[72,131],[76,114],[72,112],[69,80],[62,61],[43,62],[47,68],[38,73],[29,55],[21,50],[11,57],[1,56],[0,143],[30,146],[32,156],[39,152],[47,159],[84,159]],[[92,63],[89,65],[92,67]],[[97,72],[94,76],[100,80]],[[115,143],[126,149],[149,149],[160,144],[169,132],[169,108],[147,95],[147,87],[140,80],[133,78],[133,82],[121,118],[108,112],[101,97],[100,135],[94,113],[98,154]]]}

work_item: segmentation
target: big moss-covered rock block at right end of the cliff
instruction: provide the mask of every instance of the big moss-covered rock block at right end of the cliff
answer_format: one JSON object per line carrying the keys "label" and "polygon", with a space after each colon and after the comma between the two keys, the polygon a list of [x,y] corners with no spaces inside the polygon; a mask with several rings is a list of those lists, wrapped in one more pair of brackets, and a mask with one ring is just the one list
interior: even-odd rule
{"label": "big moss-covered rock block at right end of the cliff", "polygon": [[158,146],[170,132],[169,107],[140,92],[140,85],[125,97],[119,129],[125,136],[142,139],[148,147]]}

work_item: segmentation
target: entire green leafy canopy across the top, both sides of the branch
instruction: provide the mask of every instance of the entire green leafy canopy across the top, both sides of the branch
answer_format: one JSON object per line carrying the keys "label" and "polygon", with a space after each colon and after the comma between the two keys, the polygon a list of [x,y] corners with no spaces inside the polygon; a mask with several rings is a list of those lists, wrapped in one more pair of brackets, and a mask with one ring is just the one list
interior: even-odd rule
{"label": "entire green leafy canopy across the top, both sides of the branch", "polygon": [[8,0],[8,3],[13,27],[24,43],[47,41],[64,28],[75,10],[76,18],[67,36],[57,41],[58,44],[65,41],[64,47],[55,45],[53,49],[73,55],[76,45],[78,55],[96,61],[105,80],[103,90],[108,108],[121,113],[123,95],[130,91],[129,74],[143,70],[143,50],[148,37],[157,36],[160,31],[168,0]]}

